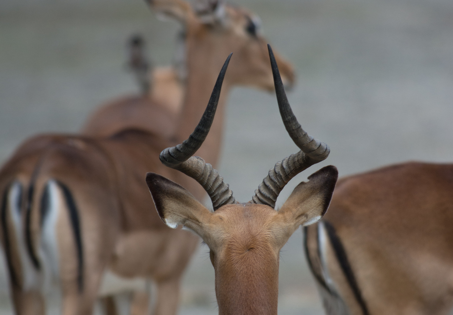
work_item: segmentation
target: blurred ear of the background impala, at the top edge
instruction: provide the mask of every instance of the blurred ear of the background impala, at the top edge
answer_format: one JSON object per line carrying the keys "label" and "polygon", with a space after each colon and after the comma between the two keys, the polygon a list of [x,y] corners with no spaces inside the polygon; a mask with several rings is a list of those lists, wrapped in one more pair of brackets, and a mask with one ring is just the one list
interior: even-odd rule
{"label": "blurred ear of the background impala, at the top edge", "polygon": [[183,0],[145,0],[160,19],[176,19],[186,24],[195,16],[189,2]]}

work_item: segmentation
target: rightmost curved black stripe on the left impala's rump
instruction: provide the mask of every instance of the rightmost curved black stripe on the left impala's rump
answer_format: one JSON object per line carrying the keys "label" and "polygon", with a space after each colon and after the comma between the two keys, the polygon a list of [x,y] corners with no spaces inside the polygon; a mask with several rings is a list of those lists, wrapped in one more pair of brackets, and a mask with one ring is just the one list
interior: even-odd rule
{"label": "rightmost curved black stripe on the left impala's rump", "polygon": [[83,251],[82,251],[82,236],[80,230],[80,218],[77,211],[77,206],[71,191],[61,181],[57,181],[58,186],[63,190],[64,199],[66,200],[67,209],[69,210],[69,218],[71,220],[74,238],[76,240],[78,270],[77,270],[77,285],[79,292],[83,290]]}

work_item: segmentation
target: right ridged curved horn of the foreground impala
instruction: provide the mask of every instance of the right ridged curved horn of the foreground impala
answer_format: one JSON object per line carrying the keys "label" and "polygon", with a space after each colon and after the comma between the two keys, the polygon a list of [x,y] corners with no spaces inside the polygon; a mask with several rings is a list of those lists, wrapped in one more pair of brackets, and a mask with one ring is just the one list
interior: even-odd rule
{"label": "right ridged curved horn of the foreground impala", "polygon": [[326,143],[314,139],[300,126],[284,92],[274,53],[269,44],[267,48],[269,49],[270,64],[272,74],[274,75],[275,94],[277,95],[280,115],[289,136],[300,148],[298,153],[285,157],[282,161],[277,162],[274,168],[269,170],[269,174],[263,179],[258,189],[255,190],[255,196],[250,201],[256,204],[275,207],[275,201],[288,181],[306,168],[326,159],[330,153],[330,149]]}

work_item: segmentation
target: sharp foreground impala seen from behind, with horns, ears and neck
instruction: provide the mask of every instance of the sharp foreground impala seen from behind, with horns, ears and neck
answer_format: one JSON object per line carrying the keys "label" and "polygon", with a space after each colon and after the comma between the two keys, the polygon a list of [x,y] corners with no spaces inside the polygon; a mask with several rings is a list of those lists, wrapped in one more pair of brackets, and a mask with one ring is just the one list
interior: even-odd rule
{"label": "sharp foreground impala seen from behind, with horns, ears and neck", "polygon": [[164,222],[193,230],[209,246],[216,275],[219,314],[277,314],[280,249],[299,225],[315,223],[327,211],[337,181],[337,169],[323,167],[301,182],[280,208],[275,200],[285,184],[307,167],[324,160],[328,146],[301,128],[284,93],[279,70],[269,47],[280,114],[298,153],[277,162],[247,203],[238,203],[223,178],[200,157],[192,157],[206,138],[217,107],[223,76],[217,78],[207,109],[197,128],[182,144],[160,153],[165,165],[196,179],[211,197],[207,210],[187,190],[155,173],[146,182]]}

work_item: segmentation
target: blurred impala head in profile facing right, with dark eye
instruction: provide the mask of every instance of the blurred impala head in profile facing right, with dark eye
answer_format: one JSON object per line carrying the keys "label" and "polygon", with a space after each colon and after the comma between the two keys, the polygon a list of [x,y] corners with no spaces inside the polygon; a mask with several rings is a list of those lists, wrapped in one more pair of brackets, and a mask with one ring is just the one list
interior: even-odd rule
{"label": "blurred impala head in profile facing right, with dark eye", "polygon": [[[225,80],[228,85],[248,85],[273,91],[267,41],[260,19],[251,12],[224,4],[221,0],[201,0],[190,5],[183,0],[147,0],[159,15],[177,19],[185,33],[188,72],[195,68],[221,67],[218,56],[234,52],[235,60]],[[294,84],[289,62],[276,55],[285,85]],[[215,74],[213,77],[215,80]]]}

